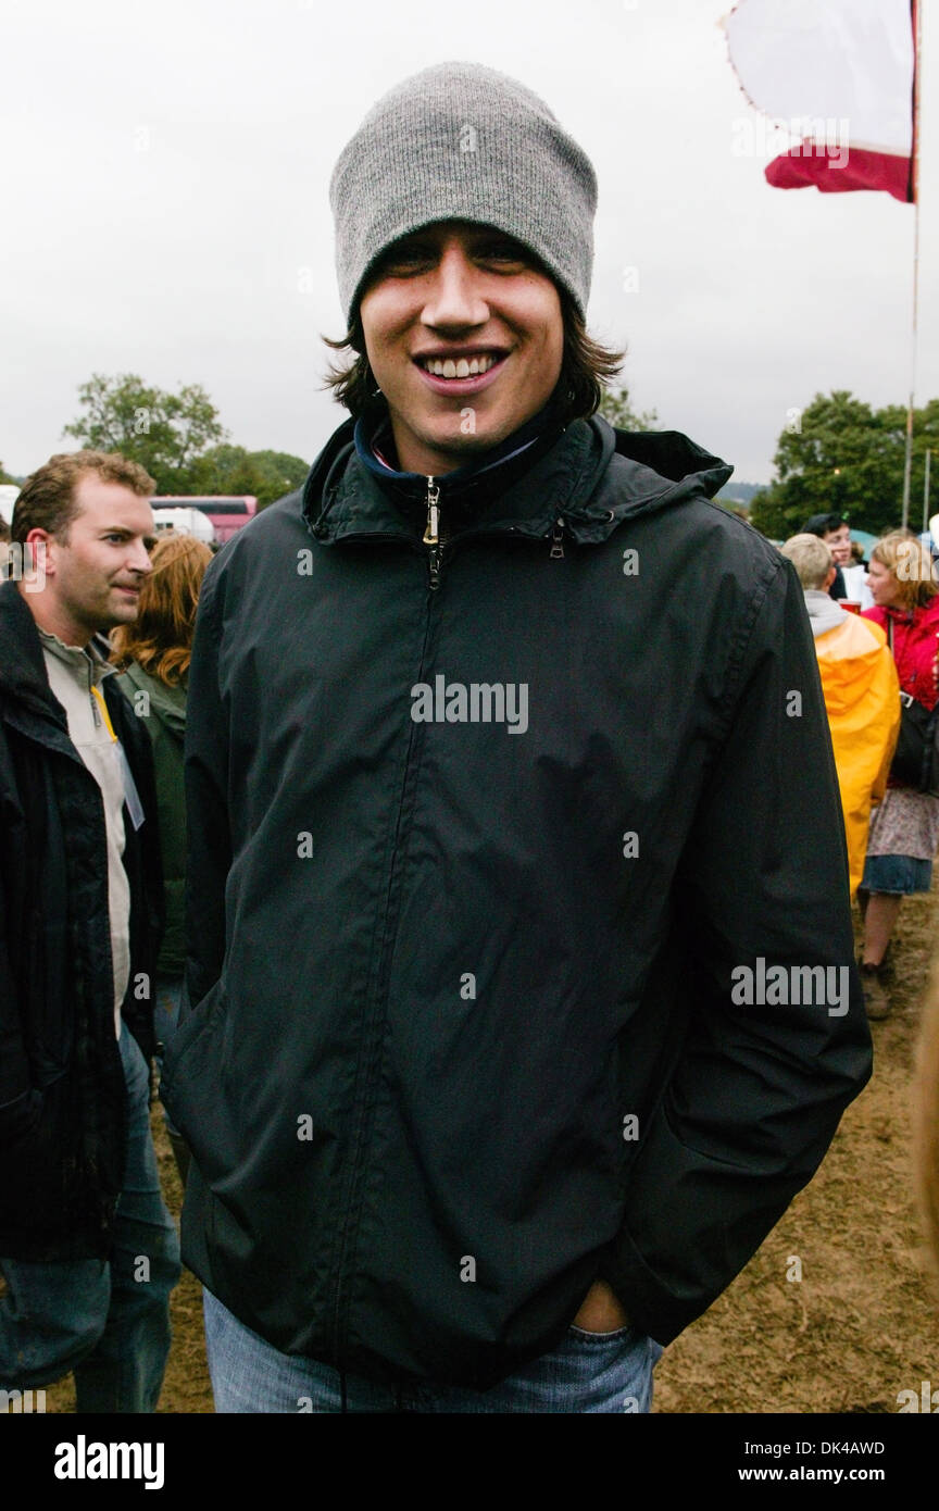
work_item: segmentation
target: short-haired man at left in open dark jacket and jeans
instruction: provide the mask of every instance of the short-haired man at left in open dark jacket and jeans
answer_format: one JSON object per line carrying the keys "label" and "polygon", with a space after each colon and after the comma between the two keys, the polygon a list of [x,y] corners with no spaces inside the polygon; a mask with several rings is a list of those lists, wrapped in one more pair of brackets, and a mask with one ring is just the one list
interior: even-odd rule
{"label": "short-haired man at left in open dark jacket and jeans", "polygon": [[152,757],[97,644],[136,618],[152,490],[53,456],[14,509],[35,571],[0,586],[0,1386],[74,1370],[79,1411],[155,1408],[180,1274],[149,1136]]}

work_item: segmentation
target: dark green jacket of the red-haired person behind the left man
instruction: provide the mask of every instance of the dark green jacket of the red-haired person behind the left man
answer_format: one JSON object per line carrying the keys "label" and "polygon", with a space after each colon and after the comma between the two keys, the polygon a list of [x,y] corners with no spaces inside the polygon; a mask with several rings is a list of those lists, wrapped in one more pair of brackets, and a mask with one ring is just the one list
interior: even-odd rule
{"label": "dark green jacket of the red-haired person behind the left man", "polygon": [[[157,956],[160,976],[181,976],[186,966],[184,890],[186,890],[186,787],[183,781],[183,742],[186,737],[186,688],[169,688],[130,662],[118,678],[121,692],[149,734],[157,783],[157,820],[163,855],[163,899],[166,928]],[[146,695],[143,701],[140,694]]]}

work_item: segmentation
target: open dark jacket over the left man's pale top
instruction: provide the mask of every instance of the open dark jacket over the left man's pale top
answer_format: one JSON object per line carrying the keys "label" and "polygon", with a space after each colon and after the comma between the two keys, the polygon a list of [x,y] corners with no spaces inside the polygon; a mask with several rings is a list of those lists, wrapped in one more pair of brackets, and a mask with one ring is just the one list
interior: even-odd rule
{"label": "open dark jacket over the left man's pale top", "polygon": [[[130,979],[124,1018],[152,1052],[162,928],[149,740],[115,684],[101,692],[145,822],[124,808]],[[107,1257],[125,1157],[115,1038],[101,789],[68,737],[35,620],[0,585],[0,1254]]]}

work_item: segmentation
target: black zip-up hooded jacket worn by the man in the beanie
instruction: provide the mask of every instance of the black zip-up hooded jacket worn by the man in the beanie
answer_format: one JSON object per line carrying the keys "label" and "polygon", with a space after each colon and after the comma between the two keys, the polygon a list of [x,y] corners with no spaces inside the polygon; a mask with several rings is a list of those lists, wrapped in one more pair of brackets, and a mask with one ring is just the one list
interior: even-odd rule
{"label": "black zip-up hooded jacket worn by the man in the beanie", "polygon": [[870,1074],[796,573],[678,434],[507,467],[382,477],[347,423],[211,564],[165,1080],[226,1307],[477,1387],[598,1277],[673,1339]]}

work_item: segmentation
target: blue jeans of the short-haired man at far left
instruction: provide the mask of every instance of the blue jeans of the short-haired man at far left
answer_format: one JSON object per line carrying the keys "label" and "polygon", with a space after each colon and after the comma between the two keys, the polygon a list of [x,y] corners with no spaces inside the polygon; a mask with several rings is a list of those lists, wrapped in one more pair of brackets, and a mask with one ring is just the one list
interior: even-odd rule
{"label": "blue jeans of the short-haired man at far left", "polygon": [[169,1354],[180,1241],[149,1135],[149,1074],[121,1029],[127,1171],[110,1260],[0,1259],[0,1389],[50,1386],[74,1370],[77,1411],[154,1411]]}

